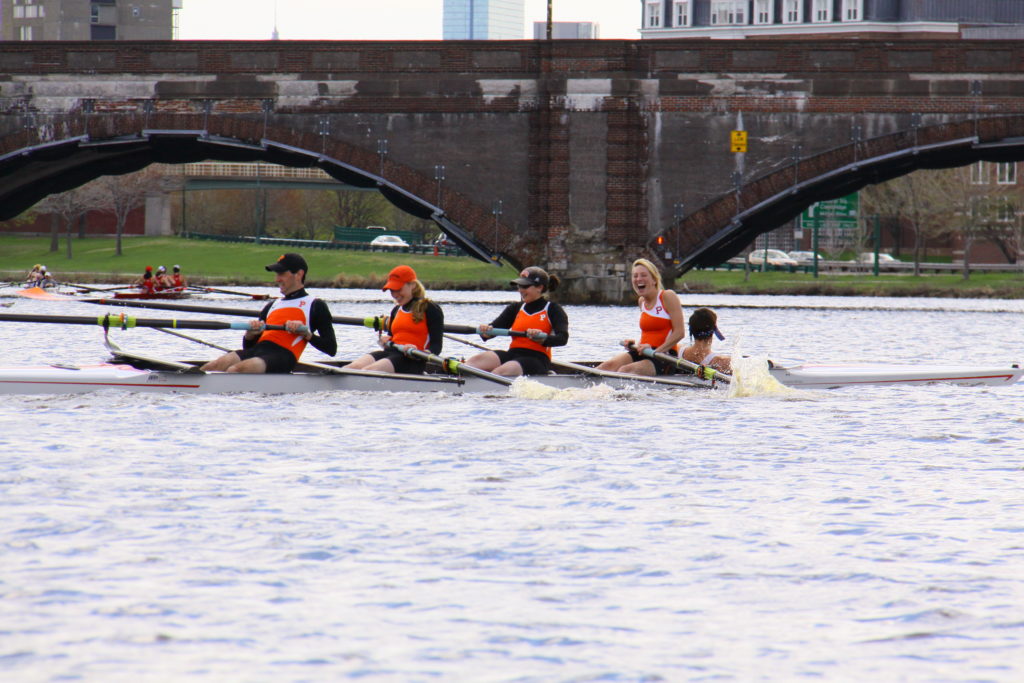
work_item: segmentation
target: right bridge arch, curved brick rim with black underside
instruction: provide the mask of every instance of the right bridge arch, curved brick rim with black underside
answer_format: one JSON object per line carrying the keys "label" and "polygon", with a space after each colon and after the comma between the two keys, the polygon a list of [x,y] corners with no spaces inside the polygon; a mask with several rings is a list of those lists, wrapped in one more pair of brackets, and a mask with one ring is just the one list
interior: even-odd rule
{"label": "right bridge arch, curved brick rim with black underside", "polygon": [[[820,154],[794,159],[722,196],[660,233],[686,256],[666,267],[681,274],[735,256],[759,234],[782,226],[815,202],[838,199],[868,184],[919,169],[954,168],[978,161],[1024,160],[1024,117],[972,119],[913,126]],[[655,255],[657,236],[648,244]]]}

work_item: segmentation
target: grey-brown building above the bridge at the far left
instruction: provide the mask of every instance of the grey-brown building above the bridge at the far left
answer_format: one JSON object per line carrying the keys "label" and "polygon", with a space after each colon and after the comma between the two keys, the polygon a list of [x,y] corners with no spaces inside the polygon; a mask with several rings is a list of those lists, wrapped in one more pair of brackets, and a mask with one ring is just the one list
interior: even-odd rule
{"label": "grey-brown building above the bridge at the far left", "polygon": [[0,0],[3,40],[171,40],[181,0]]}

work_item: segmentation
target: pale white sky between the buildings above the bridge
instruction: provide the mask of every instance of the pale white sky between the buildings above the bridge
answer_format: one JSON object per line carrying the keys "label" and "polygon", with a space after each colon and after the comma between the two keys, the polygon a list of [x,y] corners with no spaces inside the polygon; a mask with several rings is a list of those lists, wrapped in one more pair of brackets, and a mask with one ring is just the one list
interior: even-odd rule
{"label": "pale white sky between the buildings above the bridge", "polygon": [[[182,40],[440,40],[443,0],[183,0]],[[525,0],[523,38],[547,18]],[[555,22],[596,22],[601,38],[638,39],[639,0],[552,0]]]}

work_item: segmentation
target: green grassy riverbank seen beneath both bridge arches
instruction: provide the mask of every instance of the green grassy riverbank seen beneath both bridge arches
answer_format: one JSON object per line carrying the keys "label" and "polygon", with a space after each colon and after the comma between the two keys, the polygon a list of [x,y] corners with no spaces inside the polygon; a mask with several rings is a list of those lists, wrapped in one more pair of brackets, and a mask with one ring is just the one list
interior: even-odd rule
{"label": "green grassy riverbank seen beneath both bridge arches", "polygon": [[[43,263],[62,282],[131,282],[146,265],[155,268],[175,263],[197,285],[266,285],[272,282],[263,266],[273,261],[281,247],[182,240],[130,238],[123,255],[114,255],[114,241],[90,238],[72,242],[73,256],[49,251],[49,238],[0,237],[0,280],[19,281],[34,263]],[[393,254],[345,250],[305,250],[309,283],[313,287],[380,287],[388,271],[399,263],[416,269],[429,289],[505,289],[515,271],[497,268],[476,259],[455,256]],[[624,284],[625,286],[625,284]],[[788,294],[822,296],[920,296],[963,298],[1024,298],[1020,272],[882,274],[821,273],[742,270],[693,270],[676,281],[680,292],[719,294]]]}

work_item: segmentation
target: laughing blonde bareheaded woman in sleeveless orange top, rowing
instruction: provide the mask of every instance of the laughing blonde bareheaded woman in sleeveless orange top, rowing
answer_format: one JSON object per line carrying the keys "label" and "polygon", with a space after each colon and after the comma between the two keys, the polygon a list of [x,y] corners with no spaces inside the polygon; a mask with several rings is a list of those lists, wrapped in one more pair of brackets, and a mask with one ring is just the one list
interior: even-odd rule
{"label": "laughing blonde bareheaded woman in sleeveless orange top, rowing", "polygon": [[640,343],[638,345],[634,339],[624,339],[623,346],[627,350],[602,362],[598,370],[648,377],[671,375],[675,372],[671,365],[645,357],[643,350],[652,348],[656,353],[679,353],[678,342],[686,336],[679,296],[664,288],[662,273],[645,258],[633,261],[630,282],[638,297],[637,305],[640,306]]}

